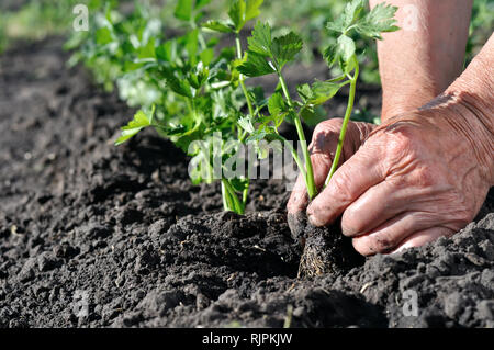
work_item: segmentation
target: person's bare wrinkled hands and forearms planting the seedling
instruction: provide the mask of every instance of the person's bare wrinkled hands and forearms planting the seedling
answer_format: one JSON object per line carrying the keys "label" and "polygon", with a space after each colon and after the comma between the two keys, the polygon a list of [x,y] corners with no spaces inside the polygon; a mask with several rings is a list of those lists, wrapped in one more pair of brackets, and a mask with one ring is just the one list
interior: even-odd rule
{"label": "person's bare wrinkled hands and forearms planting the seedling", "polygon": [[[423,18],[434,23],[423,25],[418,33],[385,35],[379,46],[380,61],[395,60],[381,65],[383,124],[350,123],[344,159],[328,187],[308,203],[303,179],[299,178],[288,204],[294,236],[300,235],[305,215],[315,226],[329,225],[341,216],[344,235],[352,237],[353,247],[362,255],[393,252],[453,235],[474,218],[494,185],[494,35],[451,83],[454,70],[461,69],[457,67],[459,59],[441,66],[439,58],[464,54],[465,39],[456,38],[459,33],[446,35],[448,29],[442,26],[449,18],[434,19],[430,13],[462,9],[467,25],[462,25],[458,12],[451,15],[467,31],[470,1],[388,2],[415,3],[425,13]],[[424,45],[407,47],[417,35],[426,36]],[[431,50],[430,43],[439,41],[438,35],[446,35],[444,39],[454,47],[441,45],[445,50]],[[414,61],[416,56],[426,59]],[[400,57],[408,65],[403,65],[406,70],[402,69],[401,80],[408,82],[402,89],[392,71],[401,65]],[[438,71],[428,75],[430,69]],[[427,83],[416,93],[420,81]],[[340,125],[340,120],[330,120],[314,132],[311,151],[319,189]]]}

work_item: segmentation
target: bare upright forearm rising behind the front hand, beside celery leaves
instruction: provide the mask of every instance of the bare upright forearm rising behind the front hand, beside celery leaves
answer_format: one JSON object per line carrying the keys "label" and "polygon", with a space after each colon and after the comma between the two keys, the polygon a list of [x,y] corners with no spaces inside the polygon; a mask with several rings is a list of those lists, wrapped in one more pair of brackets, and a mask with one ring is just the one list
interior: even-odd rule
{"label": "bare upright forearm rising behind the front hand, beside celery leaves", "polygon": [[461,74],[472,8],[472,0],[385,2],[398,8],[401,30],[378,43],[383,121],[429,102]]}

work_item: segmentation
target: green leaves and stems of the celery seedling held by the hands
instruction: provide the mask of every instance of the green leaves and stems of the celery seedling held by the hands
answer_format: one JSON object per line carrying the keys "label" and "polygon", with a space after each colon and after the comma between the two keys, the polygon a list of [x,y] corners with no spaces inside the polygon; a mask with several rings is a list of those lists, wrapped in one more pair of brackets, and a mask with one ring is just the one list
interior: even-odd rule
{"label": "green leaves and stems of the celery seedling held by the hands", "polygon": [[[327,185],[337,169],[341,156],[348,122],[353,110],[359,77],[356,44],[349,36],[349,33],[355,31],[362,36],[381,39],[381,33],[392,32],[398,29],[394,25],[396,22],[394,20],[396,10],[395,7],[380,3],[371,11],[368,11],[366,0],[353,0],[347,3],[343,15],[327,24],[327,29],[338,33],[339,36],[324,52],[324,58],[329,68],[337,65],[341,74],[335,79],[300,86],[297,88],[300,101],[294,101],[290,95],[282,69],[302,49],[301,38],[294,33],[272,38],[269,24],[262,24],[260,22],[257,23],[251,37],[248,38],[249,49],[238,70],[249,77],[276,74],[278,75],[280,89],[269,100],[269,115],[261,116],[257,120],[247,117],[243,121],[242,124],[250,134],[247,140],[252,143],[258,143],[260,139],[279,139],[285,142],[279,135],[278,127],[285,117],[293,122],[304,156],[303,162],[299,159],[296,151],[288,143],[285,145],[289,146],[302,173],[311,200],[317,195],[317,189],[314,182],[312,162],[301,120],[313,116],[315,108],[332,99],[343,87],[349,86],[350,92],[338,146],[335,158],[333,159],[332,169],[325,181],[325,185]],[[282,93],[280,93],[280,90]]]}

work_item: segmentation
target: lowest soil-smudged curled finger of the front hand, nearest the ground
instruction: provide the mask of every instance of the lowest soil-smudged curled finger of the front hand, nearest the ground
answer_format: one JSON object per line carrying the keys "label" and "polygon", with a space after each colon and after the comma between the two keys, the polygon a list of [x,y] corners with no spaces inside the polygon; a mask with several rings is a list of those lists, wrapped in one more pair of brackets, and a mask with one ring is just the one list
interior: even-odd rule
{"label": "lowest soil-smudged curled finger of the front hand, nearest the ground", "polygon": [[430,214],[405,212],[368,234],[353,238],[353,248],[362,256],[391,252],[411,235],[437,225]]}

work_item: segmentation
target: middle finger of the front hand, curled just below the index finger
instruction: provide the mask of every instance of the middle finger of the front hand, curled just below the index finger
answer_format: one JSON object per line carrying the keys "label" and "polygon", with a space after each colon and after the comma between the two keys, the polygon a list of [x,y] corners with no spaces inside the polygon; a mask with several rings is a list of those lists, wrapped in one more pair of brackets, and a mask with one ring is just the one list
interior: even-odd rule
{"label": "middle finger of the front hand, curled just below the index finger", "polygon": [[343,234],[361,236],[404,212],[409,204],[404,200],[406,192],[397,191],[396,185],[389,181],[370,188],[345,210],[341,216]]}

